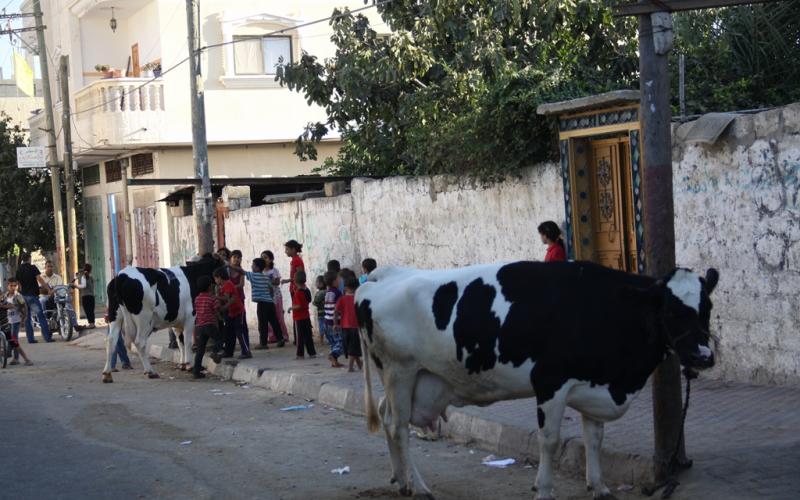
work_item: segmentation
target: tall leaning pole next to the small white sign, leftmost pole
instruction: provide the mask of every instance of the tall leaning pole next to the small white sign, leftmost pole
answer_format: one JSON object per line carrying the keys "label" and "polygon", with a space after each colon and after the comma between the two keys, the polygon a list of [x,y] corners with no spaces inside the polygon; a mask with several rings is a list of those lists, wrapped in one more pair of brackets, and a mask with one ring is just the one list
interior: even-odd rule
{"label": "tall leaning pole next to the small white sign, leftmost pole", "polygon": [[56,257],[58,271],[67,276],[67,257],[64,250],[64,214],[61,208],[61,175],[58,171],[58,149],[56,146],[56,125],[53,116],[53,97],[50,93],[50,69],[47,65],[47,44],[44,39],[42,6],[33,0],[33,16],[36,20],[36,39],[39,44],[39,69],[42,73],[42,96],[47,119],[47,161],[50,164],[50,185],[53,191],[53,219],[56,225]]}

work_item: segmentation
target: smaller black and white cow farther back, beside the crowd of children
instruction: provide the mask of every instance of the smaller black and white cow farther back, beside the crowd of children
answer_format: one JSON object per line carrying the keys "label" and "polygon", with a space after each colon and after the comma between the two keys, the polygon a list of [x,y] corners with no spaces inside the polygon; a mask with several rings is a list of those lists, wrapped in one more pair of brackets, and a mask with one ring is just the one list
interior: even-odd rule
{"label": "smaller black and white cow farther back, beside the crowd of children", "polygon": [[172,327],[183,332],[183,342],[178,342],[181,368],[192,365],[192,336],[194,333],[194,299],[197,278],[211,277],[214,270],[224,265],[215,257],[204,257],[186,266],[169,269],[151,269],[128,266],[108,283],[108,337],[106,338],[106,366],[103,382],[113,382],[111,355],[123,330],[128,343],[136,344],[144,373],[158,378],[150,365],[148,341],[157,329]]}

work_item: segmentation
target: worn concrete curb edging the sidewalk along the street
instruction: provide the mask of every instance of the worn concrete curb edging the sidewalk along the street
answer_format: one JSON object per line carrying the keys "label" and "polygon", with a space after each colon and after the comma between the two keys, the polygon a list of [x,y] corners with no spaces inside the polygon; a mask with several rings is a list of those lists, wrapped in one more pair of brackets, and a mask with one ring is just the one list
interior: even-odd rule
{"label": "worn concrete curb edging the sidewalk along the street", "polygon": [[[151,345],[150,355],[162,361],[180,361],[178,351],[167,349],[163,345]],[[236,361],[217,364],[209,356],[203,357],[203,366],[210,373],[226,380],[313,400],[353,415],[364,415],[364,391],[360,388],[343,387],[287,370],[260,369]],[[382,393],[380,384],[377,384],[376,396],[378,392]],[[535,417],[531,415],[531,429],[535,429],[535,421]],[[502,424],[453,407],[447,410],[447,422],[439,421],[438,435],[456,443],[474,445],[533,464],[539,460],[535,430]],[[603,448],[601,463],[608,483],[645,484],[653,478],[652,459],[638,454]],[[583,440],[575,437],[563,439],[555,466],[562,473],[583,477]]]}

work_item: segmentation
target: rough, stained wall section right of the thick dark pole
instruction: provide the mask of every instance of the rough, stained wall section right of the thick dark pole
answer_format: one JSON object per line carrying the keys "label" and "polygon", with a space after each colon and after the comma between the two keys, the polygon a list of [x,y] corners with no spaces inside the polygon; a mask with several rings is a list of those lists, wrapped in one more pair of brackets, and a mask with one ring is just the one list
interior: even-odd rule
{"label": "rough, stained wall section right of the thick dark pole", "polygon": [[714,266],[716,375],[800,382],[800,104],[736,118],[714,145],[673,148],[679,265]]}

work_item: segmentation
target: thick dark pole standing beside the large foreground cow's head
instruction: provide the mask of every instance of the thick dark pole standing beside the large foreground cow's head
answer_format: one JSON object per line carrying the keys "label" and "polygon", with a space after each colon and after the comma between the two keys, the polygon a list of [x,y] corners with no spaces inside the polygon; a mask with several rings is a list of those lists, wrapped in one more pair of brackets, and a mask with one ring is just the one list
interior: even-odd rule
{"label": "thick dark pole standing beside the large foreground cow's head", "polygon": [[[662,13],[656,14],[662,15]],[[667,36],[663,25],[654,33],[652,17],[639,16],[639,79],[644,151],[645,265],[650,276],[663,277],[675,268],[675,223],[672,197],[672,137],[670,125],[669,45],[654,38]],[[653,375],[655,478],[670,473],[670,458],[680,439],[681,373],[676,356],[669,356]]]}

